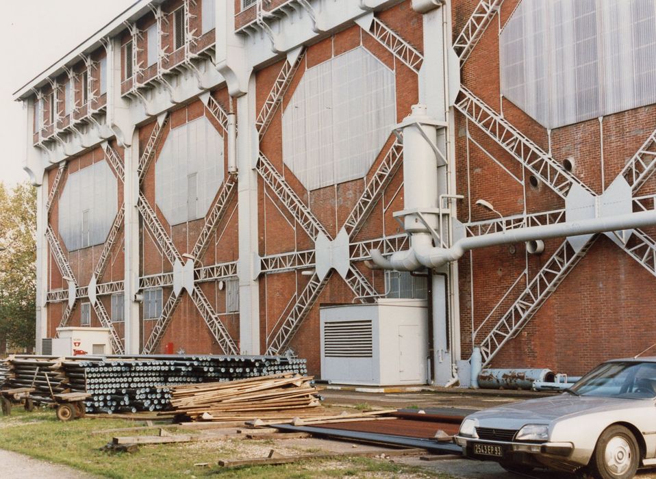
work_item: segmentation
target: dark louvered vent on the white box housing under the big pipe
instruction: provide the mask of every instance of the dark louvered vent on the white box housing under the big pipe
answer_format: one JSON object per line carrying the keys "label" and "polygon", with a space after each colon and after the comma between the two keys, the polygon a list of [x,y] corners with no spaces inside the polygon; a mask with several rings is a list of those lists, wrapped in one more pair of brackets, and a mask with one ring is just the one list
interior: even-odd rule
{"label": "dark louvered vent on the white box housing under the big pipe", "polygon": [[323,333],[325,357],[372,357],[371,320],[326,322]]}

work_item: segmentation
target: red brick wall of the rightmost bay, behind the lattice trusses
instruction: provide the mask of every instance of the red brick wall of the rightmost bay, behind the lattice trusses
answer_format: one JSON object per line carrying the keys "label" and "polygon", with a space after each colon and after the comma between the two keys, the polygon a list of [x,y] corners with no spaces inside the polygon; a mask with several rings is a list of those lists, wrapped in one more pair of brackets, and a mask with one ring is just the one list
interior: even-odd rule
{"label": "red brick wall of the rightmost bay, behind the lattice trusses", "polygon": [[[517,0],[506,0],[499,12],[503,26]],[[453,2],[453,37],[465,25],[477,1]],[[548,151],[548,132],[507,99],[501,100],[499,81],[499,17],[472,51],[462,69],[462,82],[492,109],[501,113],[516,129]],[[469,129],[470,138],[466,137]],[[612,114],[603,118],[603,135],[597,119],[551,131],[553,157],[575,161],[574,174],[596,194],[617,177],[626,162],[656,128],[653,105]],[[490,201],[503,215],[548,211],[564,207],[564,200],[546,185],[522,187],[475,142],[520,180],[529,172],[496,142],[464,117],[456,115],[457,192],[459,220],[492,218],[488,211],[472,206],[479,198]],[[602,150],[603,140],[603,150]],[[603,163],[602,163],[603,158]],[[602,168],[604,178],[602,181]],[[655,191],[650,180],[640,194]],[[649,231],[649,230],[648,230]],[[510,285],[527,268],[529,279],[544,266],[562,239],[546,243],[542,255],[525,257],[525,247],[499,246],[467,254],[459,261],[459,305],[463,357],[472,346],[472,329],[479,328]],[[594,246],[565,281],[544,303],[529,324],[501,349],[492,361],[496,367],[551,367],[557,372],[583,374],[596,363],[612,357],[637,354],[656,342],[656,335],[644,325],[653,318],[653,294],[645,285],[653,276],[607,237]],[[522,279],[477,335],[479,344],[490,328],[507,311],[526,285]]]}

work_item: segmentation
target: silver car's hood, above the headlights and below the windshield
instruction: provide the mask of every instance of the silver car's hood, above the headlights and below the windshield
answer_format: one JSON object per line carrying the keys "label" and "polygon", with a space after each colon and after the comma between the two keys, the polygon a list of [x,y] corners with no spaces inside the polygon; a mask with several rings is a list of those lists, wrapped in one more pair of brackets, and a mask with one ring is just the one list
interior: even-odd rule
{"label": "silver car's hood, above the headlights and below the windshield", "polygon": [[654,408],[653,400],[595,398],[572,396],[568,393],[551,398],[515,402],[485,409],[468,416],[477,419],[479,426],[505,429],[520,428],[524,424],[549,424],[569,416],[602,413],[617,409]]}

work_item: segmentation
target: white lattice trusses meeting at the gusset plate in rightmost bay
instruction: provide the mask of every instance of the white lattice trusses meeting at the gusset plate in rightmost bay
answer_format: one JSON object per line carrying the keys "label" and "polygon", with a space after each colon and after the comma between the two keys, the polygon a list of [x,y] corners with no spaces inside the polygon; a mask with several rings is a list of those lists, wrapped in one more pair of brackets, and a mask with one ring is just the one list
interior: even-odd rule
{"label": "white lattice trusses meeting at the gusset plate in rightmost bay", "polygon": [[[525,168],[538,175],[559,196],[564,198],[571,185],[575,183],[588,190],[593,196],[596,196],[579,179],[560,168],[551,155],[542,151],[531,140],[528,140],[522,133],[514,129],[512,125],[496,114],[488,105],[477,99],[466,88],[463,87],[462,91],[464,93],[464,99],[456,105],[457,109],[468,120],[488,134],[492,140],[499,143],[515,159],[520,161],[522,166],[525,166]],[[638,152],[631,157],[627,166],[620,172],[620,175],[624,176],[629,185],[631,185],[633,194],[651,177],[651,174],[656,169],[655,140],[656,131],[647,138]],[[499,228],[503,230],[508,226],[532,226],[533,224],[531,222],[535,222],[535,220],[542,220],[545,223],[560,222],[564,220],[564,212],[557,210],[521,217],[501,218],[492,222],[478,222],[477,224],[466,225],[466,229],[470,235],[486,234],[488,232],[499,231]],[[620,245],[620,248],[625,250],[629,256],[656,276],[656,242],[639,229],[633,230],[632,233],[629,242]],[[509,339],[516,336],[525,324],[533,318],[533,315],[544,304],[544,301],[551,296],[566,275],[577,265],[585,253],[587,253],[592,242],[594,242],[594,237],[578,253],[573,253],[567,241],[556,250],[544,268],[531,280],[526,289],[520,293],[519,298],[514,302],[512,307],[483,339],[481,352],[483,354],[484,365],[487,365],[499,349]]]}

